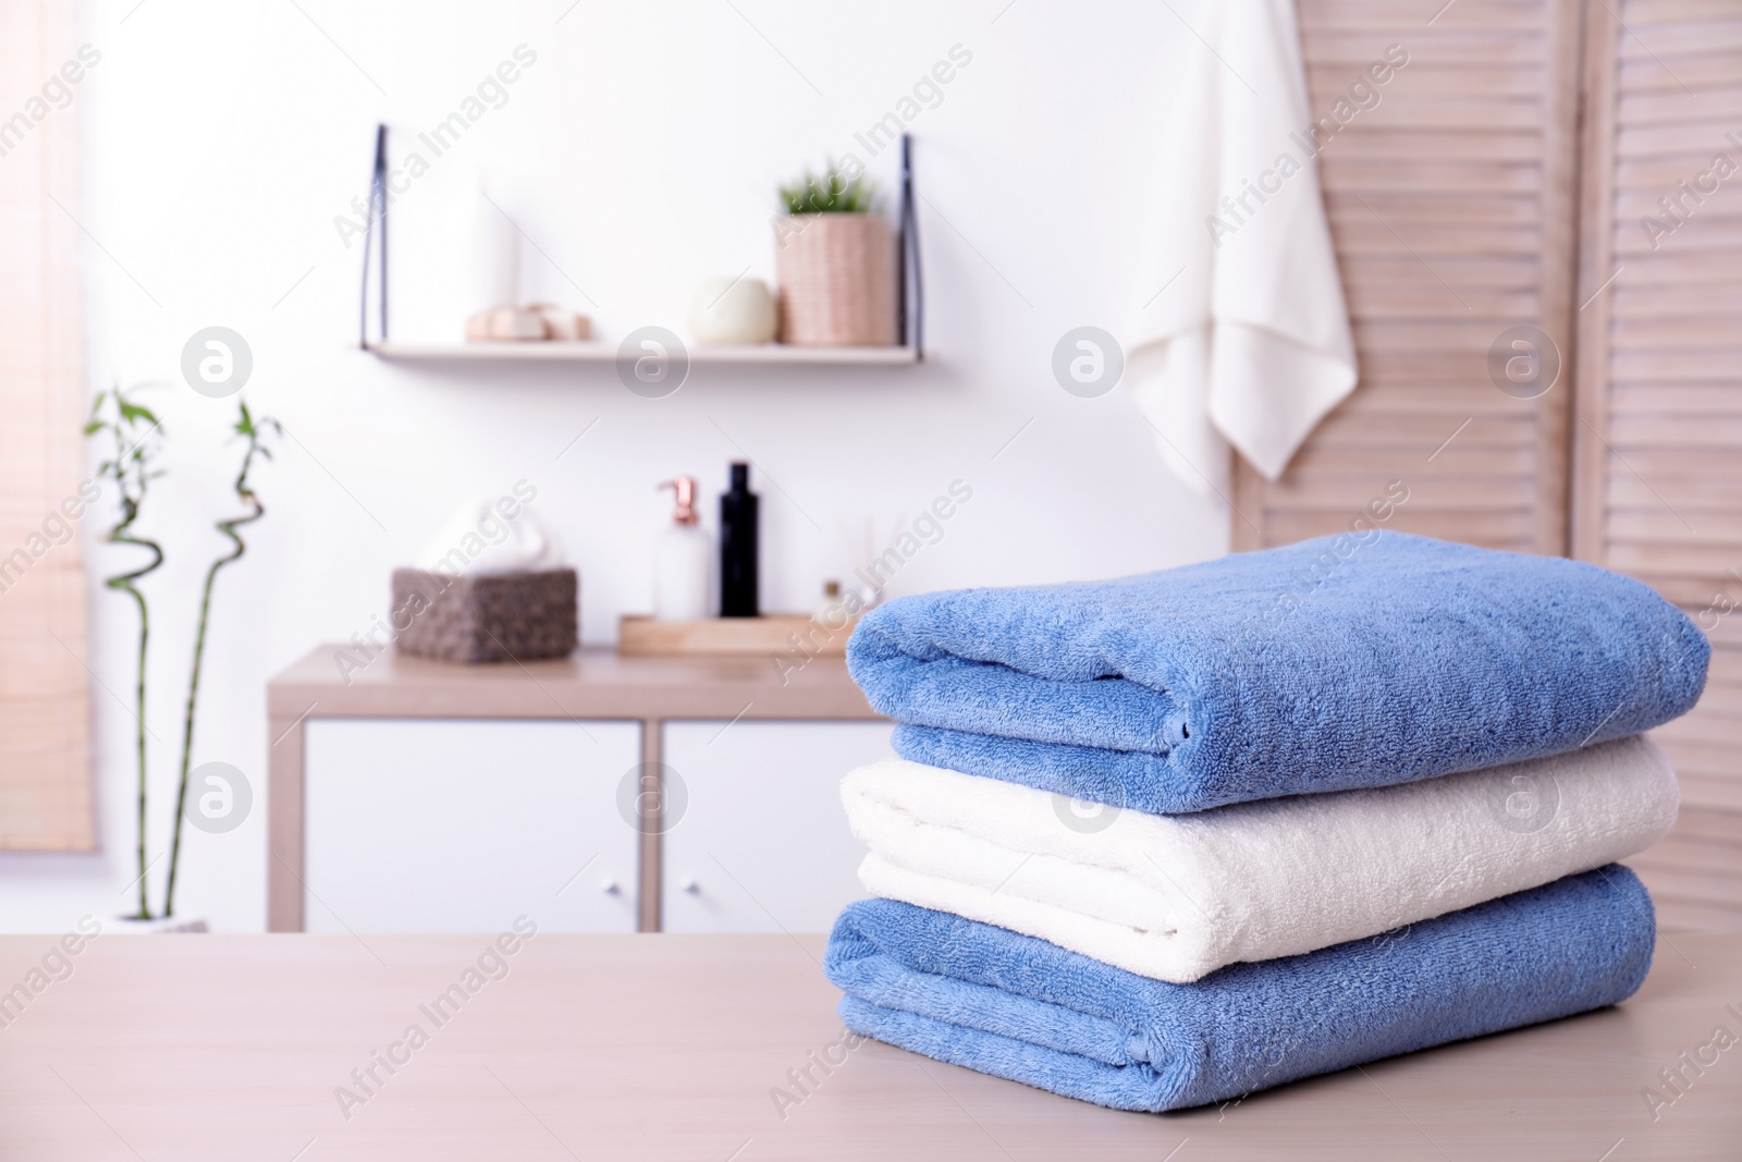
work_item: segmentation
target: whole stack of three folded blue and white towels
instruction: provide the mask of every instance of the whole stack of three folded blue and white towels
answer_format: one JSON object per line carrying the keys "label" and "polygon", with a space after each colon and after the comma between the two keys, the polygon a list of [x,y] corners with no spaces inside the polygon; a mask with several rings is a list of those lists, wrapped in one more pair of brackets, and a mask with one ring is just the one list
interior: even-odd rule
{"label": "whole stack of three folded blue and white towels", "polygon": [[1367,531],[864,618],[857,1033],[1124,1110],[1617,1003],[1709,646],[1590,564]]}

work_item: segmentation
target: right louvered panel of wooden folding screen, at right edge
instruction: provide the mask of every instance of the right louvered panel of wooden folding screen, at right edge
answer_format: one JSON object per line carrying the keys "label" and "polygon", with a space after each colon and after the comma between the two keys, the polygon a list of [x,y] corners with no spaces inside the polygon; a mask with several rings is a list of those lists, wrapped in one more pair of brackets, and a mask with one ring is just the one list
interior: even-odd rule
{"label": "right louvered panel of wooden folding screen, at right edge", "polygon": [[[1618,17],[1618,19],[1617,19]],[[1676,834],[1632,861],[1664,923],[1742,927],[1742,2],[1610,0],[1587,24],[1573,552],[1714,646],[1655,732]]]}

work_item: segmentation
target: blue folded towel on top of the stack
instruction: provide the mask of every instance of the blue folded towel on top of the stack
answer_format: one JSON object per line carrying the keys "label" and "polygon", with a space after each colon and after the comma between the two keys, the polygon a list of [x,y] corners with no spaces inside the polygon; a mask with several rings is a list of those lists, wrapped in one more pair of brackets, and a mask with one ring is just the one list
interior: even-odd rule
{"label": "blue folded towel on top of the stack", "polygon": [[1160,814],[1637,733],[1693,707],[1709,657],[1632,578],[1378,530],[902,598],[847,646],[904,758]]}

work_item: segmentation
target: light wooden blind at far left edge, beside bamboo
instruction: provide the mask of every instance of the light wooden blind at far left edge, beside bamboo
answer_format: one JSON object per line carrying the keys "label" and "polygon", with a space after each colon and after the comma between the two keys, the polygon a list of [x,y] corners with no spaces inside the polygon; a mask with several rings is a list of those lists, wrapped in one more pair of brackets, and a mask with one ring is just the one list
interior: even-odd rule
{"label": "light wooden blind at far left edge, beside bamboo", "polygon": [[[0,3],[0,848],[94,845],[82,418],[78,5]],[[57,82],[44,96],[42,85]],[[68,98],[68,94],[71,94]],[[19,111],[23,110],[23,111]],[[10,117],[17,111],[17,117]],[[61,206],[56,206],[56,199]],[[63,206],[66,209],[63,209]],[[89,519],[89,516],[85,516]]]}

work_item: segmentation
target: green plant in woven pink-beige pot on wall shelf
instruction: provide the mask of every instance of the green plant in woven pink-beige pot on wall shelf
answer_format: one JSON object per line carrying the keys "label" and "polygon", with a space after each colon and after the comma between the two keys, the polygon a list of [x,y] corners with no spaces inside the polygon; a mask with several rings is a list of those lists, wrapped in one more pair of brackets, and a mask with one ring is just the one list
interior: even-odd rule
{"label": "green plant in woven pink-beige pot on wall shelf", "polygon": [[775,220],[780,341],[798,347],[894,347],[895,232],[874,213],[859,172],[833,162],[780,186]]}

